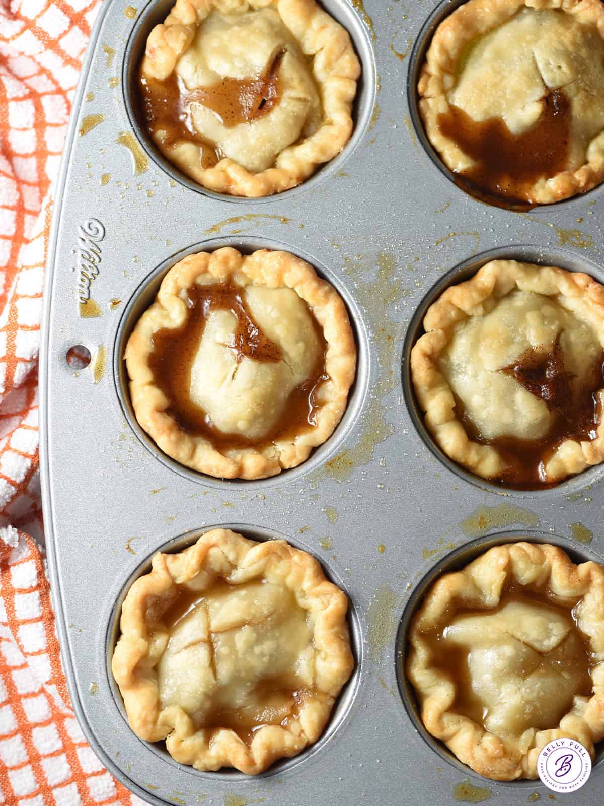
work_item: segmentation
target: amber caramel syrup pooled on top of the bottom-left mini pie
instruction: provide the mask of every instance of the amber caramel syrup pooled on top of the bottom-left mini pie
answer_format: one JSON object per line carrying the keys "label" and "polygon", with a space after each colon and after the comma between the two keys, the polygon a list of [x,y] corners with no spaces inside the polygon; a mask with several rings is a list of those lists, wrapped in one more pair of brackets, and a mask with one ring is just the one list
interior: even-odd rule
{"label": "amber caramel syrup pooled on top of the bottom-left mini pie", "polygon": [[[159,616],[168,630],[192,613],[197,607],[205,607],[207,599],[211,596],[221,596],[235,591],[241,586],[231,585],[222,577],[217,577],[213,584],[204,592],[188,591],[180,588],[176,598]],[[209,636],[212,642],[212,634]],[[260,680],[254,688],[254,700],[260,708],[251,705],[249,708],[217,708],[208,720],[198,728],[215,731],[217,729],[230,729],[237,733],[242,742],[250,745],[256,733],[265,725],[282,725],[286,727],[298,719],[300,708],[310,699],[316,697],[316,692],[304,688],[292,688],[292,677],[295,672],[288,675],[288,680],[279,677]]]}

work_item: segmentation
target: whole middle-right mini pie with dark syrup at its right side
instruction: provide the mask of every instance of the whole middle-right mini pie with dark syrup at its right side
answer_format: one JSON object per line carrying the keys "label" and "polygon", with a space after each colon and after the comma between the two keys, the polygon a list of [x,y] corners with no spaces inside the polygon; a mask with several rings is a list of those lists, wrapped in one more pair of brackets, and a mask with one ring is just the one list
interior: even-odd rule
{"label": "whole middle-right mini pie with dark syrup at its right side", "polygon": [[604,286],[493,260],[441,294],[411,354],[441,450],[486,479],[555,484],[604,459]]}

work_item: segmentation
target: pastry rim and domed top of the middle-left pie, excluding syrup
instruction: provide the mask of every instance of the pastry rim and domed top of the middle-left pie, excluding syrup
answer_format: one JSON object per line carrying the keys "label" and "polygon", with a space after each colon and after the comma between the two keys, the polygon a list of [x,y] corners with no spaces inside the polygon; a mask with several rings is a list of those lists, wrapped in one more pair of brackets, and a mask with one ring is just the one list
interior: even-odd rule
{"label": "pastry rim and domed top of the middle-left pie, excluding syrup", "polygon": [[[276,361],[238,355],[234,315],[217,310],[207,316],[192,361],[189,396],[219,430],[233,435],[233,444],[184,429],[152,368],[154,334],[162,332],[165,338],[170,330],[187,326],[190,289],[226,284],[239,289],[254,326],[281,353]],[[303,422],[270,438],[271,427],[287,414],[288,395],[321,359],[323,347],[312,318],[325,339],[323,376],[312,398],[313,425]],[[176,461],[225,478],[274,476],[304,462],[340,422],[356,371],[354,335],[332,285],[289,252],[259,250],[243,256],[230,247],[188,256],[168,272],[156,301],[134,327],[125,357],[130,397],[143,429]],[[247,443],[236,444],[237,438]]]}

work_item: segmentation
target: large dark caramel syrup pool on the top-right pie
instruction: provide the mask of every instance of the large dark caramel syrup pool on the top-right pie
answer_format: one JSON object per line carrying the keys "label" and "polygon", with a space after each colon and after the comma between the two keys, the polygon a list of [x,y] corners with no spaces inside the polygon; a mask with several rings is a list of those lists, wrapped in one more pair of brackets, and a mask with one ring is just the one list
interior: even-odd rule
{"label": "large dark caramel syrup pool on the top-right pie", "polygon": [[540,118],[519,135],[502,118],[477,123],[458,106],[438,116],[441,134],[475,162],[456,173],[462,189],[498,207],[530,210],[536,205],[532,186],[564,171],[569,156],[570,103],[563,89],[553,89],[544,100]]}

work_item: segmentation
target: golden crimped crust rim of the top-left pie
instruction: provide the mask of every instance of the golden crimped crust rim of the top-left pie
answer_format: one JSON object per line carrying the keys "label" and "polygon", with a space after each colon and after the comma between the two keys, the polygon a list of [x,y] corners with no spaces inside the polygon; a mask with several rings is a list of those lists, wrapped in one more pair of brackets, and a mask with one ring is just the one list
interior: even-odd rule
{"label": "golden crimped crust rim of the top-left pie", "polygon": [[[312,77],[321,95],[321,126],[299,143],[285,148],[275,166],[250,172],[234,159],[223,158],[212,168],[202,168],[198,148],[177,165],[189,177],[217,193],[261,197],[300,185],[316,168],[341,152],[353,131],[352,104],[361,65],[350,35],[315,0],[178,0],[165,22],[155,26],[147,40],[142,75],[165,80],[208,15],[234,15],[246,10],[275,8],[283,23],[312,59]],[[183,141],[184,142],[184,141]],[[172,160],[171,149],[155,138],[159,150]]]}

